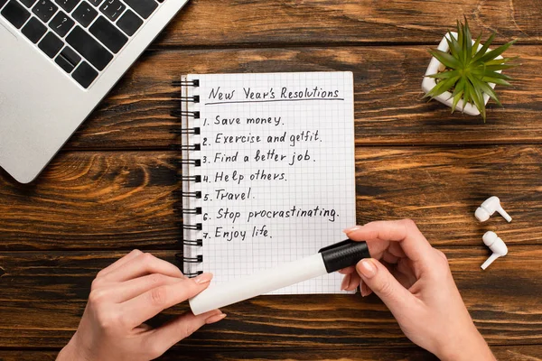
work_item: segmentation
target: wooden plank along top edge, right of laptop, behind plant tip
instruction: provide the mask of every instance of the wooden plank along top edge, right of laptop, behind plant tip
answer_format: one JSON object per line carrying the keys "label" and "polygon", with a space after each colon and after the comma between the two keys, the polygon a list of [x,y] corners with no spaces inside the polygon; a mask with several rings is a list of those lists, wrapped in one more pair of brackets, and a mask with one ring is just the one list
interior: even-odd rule
{"label": "wooden plank along top edge, right of laptop, behind plant tip", "polygon": [[542,40],[542,8],[534,0],[240,1],[192,0],[154,46],[272,46],[299,43],[436,43],[467,17],[472,32],[499,42]]}

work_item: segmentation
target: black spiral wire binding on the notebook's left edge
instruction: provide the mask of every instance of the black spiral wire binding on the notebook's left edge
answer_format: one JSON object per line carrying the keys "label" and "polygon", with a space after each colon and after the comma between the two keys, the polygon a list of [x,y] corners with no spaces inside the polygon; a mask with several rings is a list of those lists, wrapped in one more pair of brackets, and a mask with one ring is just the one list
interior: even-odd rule
{"label": "black spiral wire binding on the notebook's left edge", "polygon": [[176,177],[182,184],[182,190],[175,192],[176,202],[173,206],[177,217],[182,218],[182,253],[176,254],[175,258],[182,264],[182,273],[187,277],[195,277],[203,273],[200,269],[203,262],[201,255],[201,159],[198,152],[201,151],[199,142],[200,127],[198,119],[200,112],[196,109],[200,103],[200,96],[192,94],[200,87],[198,79],[188,80],[182,77],[179,81],[173,81],[173,87],[180,88],[180,96],[173,95],[173,100],[178,101],[177,109],[171,116],[179,119],[178,124],[171,130],[175,134],[176,141],[172,145],[173,151],[181,152],[181,159],[174,160]]}

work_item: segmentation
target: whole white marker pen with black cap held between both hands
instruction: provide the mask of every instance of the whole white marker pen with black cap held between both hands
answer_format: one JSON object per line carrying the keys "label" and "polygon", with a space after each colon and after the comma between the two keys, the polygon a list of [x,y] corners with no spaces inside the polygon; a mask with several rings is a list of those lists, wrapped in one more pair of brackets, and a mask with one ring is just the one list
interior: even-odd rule
{"label": "whole white marker pen with black cap held between both hands", "polygon": [[350,239],[322,248],[316,255],[281,264],[234,281],[213,285],[189,300],[194,315],[220,309],[294,283],[310,280],[326,273],[357,264],[370,258],[365,242]]}

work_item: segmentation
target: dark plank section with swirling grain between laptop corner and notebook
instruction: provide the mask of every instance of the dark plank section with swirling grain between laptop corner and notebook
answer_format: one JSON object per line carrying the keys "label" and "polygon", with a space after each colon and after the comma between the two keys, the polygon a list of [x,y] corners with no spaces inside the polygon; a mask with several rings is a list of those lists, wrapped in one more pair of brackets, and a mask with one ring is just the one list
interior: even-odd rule
{"label": "dark plank section with swirling grain between laptop corner and notebook", "polygon": [[63,153],[32,185],[0,180],[0,249],[177,247],[174,153]]}

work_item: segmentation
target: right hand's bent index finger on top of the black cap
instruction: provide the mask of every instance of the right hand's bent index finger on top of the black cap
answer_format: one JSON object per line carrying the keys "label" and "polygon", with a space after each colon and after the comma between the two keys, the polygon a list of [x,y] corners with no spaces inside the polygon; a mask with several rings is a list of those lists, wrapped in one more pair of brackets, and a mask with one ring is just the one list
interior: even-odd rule
{"label": "right hand's bent index finger on top of the black cap", "polygon": [[348,234],[350,239],[367,241],[369,253],[378,254],[388,248],[390,242],[399,242],[405,255],[411,260],[431,260],[435,255],[433,247],[410,219],[377,221],[357,228]]}

